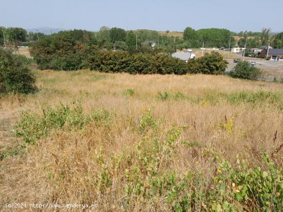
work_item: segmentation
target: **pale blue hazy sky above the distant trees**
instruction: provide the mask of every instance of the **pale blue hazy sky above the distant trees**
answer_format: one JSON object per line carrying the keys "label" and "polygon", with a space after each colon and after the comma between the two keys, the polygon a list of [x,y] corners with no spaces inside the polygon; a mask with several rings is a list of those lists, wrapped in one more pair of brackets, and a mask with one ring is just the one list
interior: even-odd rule
{"label": "pale blue hazy sky above the distant trees", "polygon": [[283,31],[283,1],[267,0],[0,0],[0,26],[183,31],[190,26]]}

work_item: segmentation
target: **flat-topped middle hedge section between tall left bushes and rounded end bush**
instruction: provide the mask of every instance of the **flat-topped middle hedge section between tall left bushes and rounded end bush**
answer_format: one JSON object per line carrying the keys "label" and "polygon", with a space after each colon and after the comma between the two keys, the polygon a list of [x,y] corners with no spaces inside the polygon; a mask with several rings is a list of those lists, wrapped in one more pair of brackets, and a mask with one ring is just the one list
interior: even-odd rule
{"label": "flat-topped middle hedge section between tall left bushes and rounded end bush", "polygon": [[166,54],[137,53],[125,51],[93,51],[87,62],[91,70],[101,72],[127,72],[140,74],[186,74],[185,62]]}

